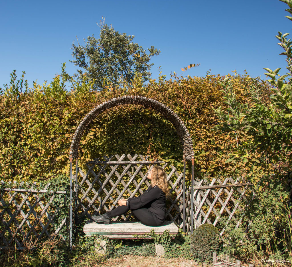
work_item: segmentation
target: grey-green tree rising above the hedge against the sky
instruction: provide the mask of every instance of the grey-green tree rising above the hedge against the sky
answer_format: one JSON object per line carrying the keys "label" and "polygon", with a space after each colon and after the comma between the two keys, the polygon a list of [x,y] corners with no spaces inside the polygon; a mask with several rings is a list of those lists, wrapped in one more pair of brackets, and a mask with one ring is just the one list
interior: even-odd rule
{"label": "grey-green tree rising above the hedge against the sky", "polygon": [[[149,63],[152,56],[158,56],[160,51],[151,46],[148,48],[149,54],[132,42],[134,35],[120,34],[115,31],[112,25],[110,27],[100,21],[100,38],[96,39],[94,35],[88,36],[84,40],[85,46],[78,42],[78,46],[72,44],[72,56],[75,60],[75,66],[84,69],[77,70],[79,77],[87,81],[93,81],[95,89],[102,90],[106,83],[112,87],[118,87],[121,82],[132,81],[135,73],[139,73],[142,82],[145,82],[151,75]],[[78,39],[77,39],[78,41]]]}

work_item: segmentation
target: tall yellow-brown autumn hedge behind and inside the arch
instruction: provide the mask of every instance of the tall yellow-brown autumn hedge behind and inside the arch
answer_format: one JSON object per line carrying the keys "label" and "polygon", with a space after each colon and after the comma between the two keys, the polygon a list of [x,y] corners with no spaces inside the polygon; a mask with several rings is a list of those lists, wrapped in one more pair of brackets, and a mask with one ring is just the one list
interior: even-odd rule
{"label": "tall yellow-brown autumn hedge behind and inside the arch", "polygon": [[[62,74],[65,74],[63,66]],[[10,86],[1,92],[1,156],[3,180],[44,180],[53,174],[68,174],[69,148],[76,127],[96,105],[122,95],[147,96],[169,106],[187,126],[195,153],[195,175],[216,177],[251,176],[266,172],[271,162],[258,153],[240,155],[238,145],[248,142],[243,132],[222,133],[212,130],[219,123],[214,109],[224,105],[220,84],[224,77],[165,76],[143,85],[139,76],[122,88],[105,86],[95,91],[92,84],[71,80],[65,89],[65,75],[46,85],[24,88],[23,77],[11,74]],[[240,101],[248,103],[248,75],[232,76]],[[263,89],[265,82],[258,80]],[[68,86],[68,85],[67,85]],[[142,154],[163,159],[178,168],[183,166],[182,147],[174,127],[160,114],[141,106],[122,106],[99,115],[80,143],[79,164],[112,154]],[[188,168],[190,169],[190,168]]]}

